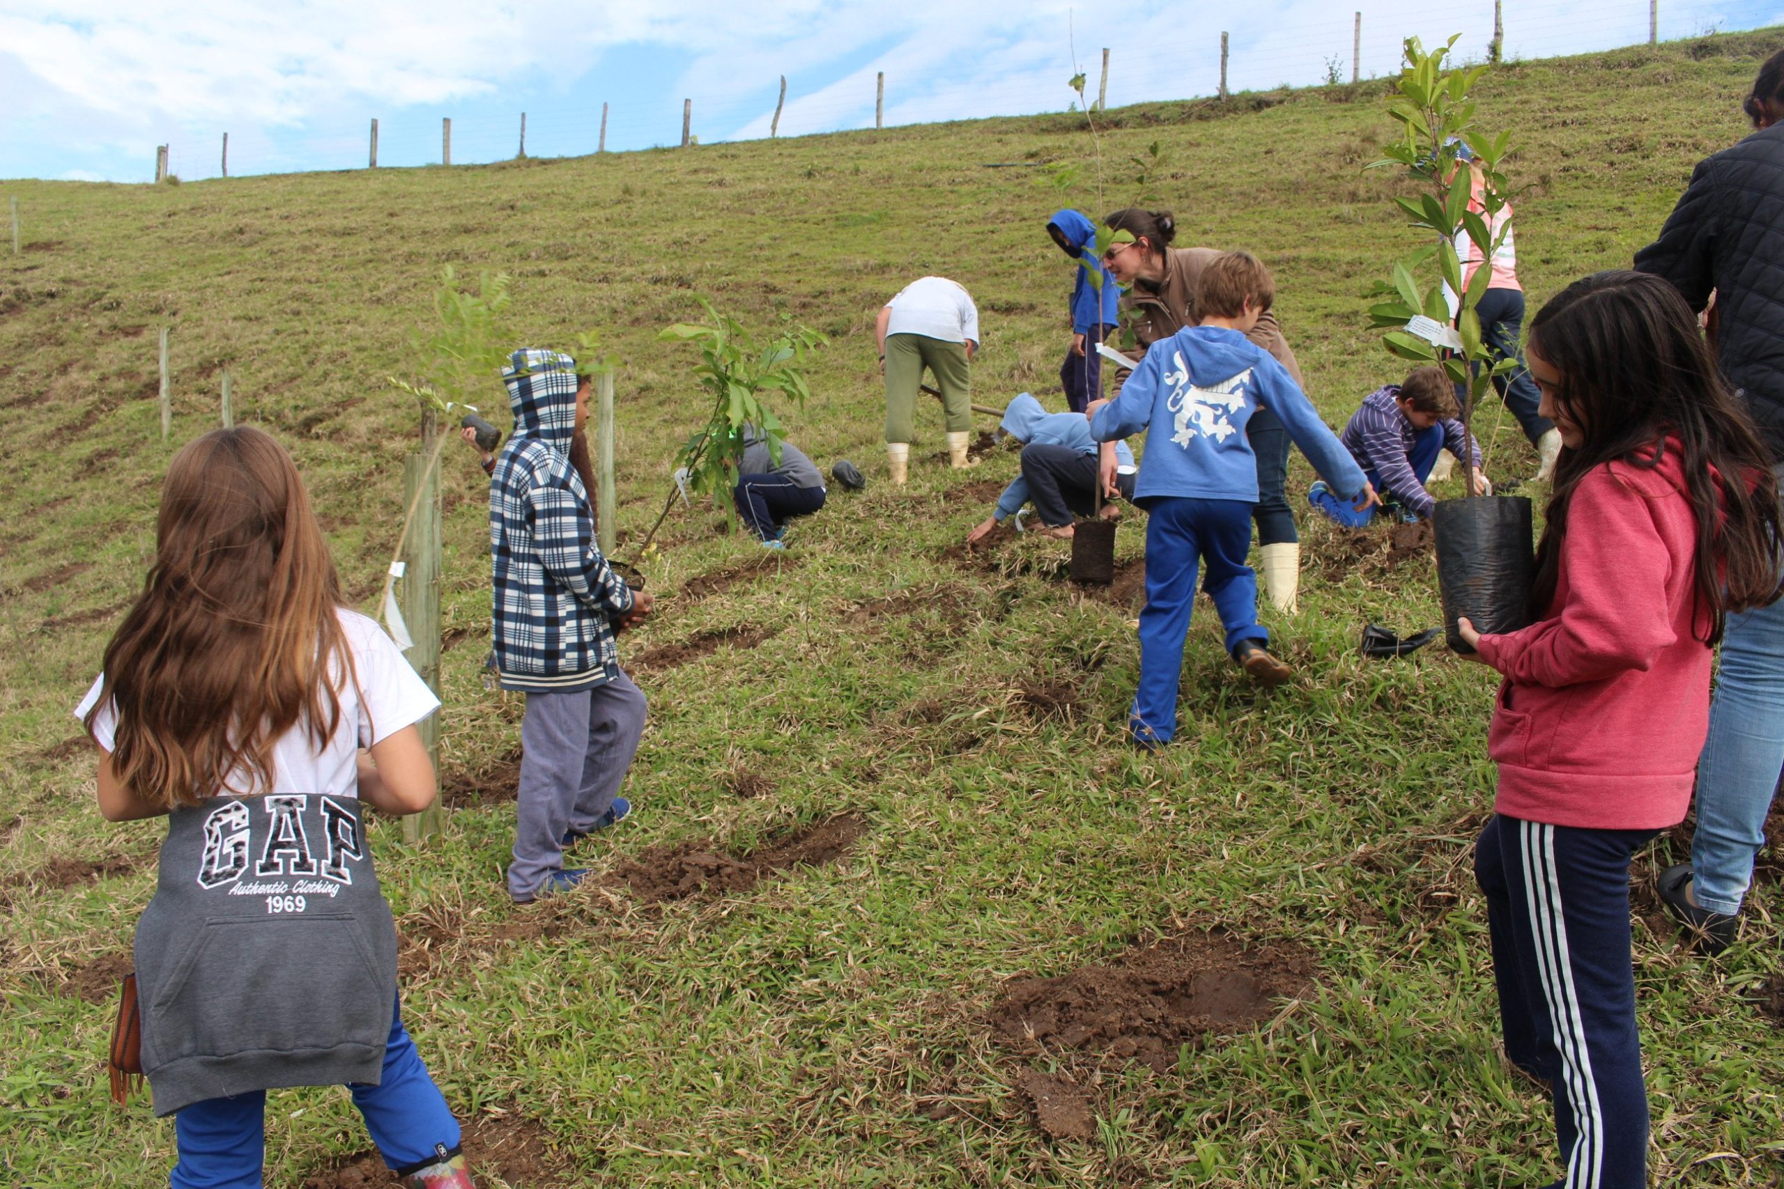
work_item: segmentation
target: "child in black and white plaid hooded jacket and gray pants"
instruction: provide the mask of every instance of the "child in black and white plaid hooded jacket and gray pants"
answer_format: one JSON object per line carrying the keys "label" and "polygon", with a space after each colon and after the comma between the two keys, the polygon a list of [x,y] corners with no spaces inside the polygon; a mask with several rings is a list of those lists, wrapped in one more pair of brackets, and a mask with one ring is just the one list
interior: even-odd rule
{"label": "child in black and white plaid hooded jacket and gray pants", "polygon": [[644,733],[644,693],[619,667],[615,627],[649,611],[594,544],[594,510],[569,463],[589,417],[576,360],[523,348],[501,373],[514,431],[489,481],[492,640],[503,690],[526,693],[508,895],[530,904],[578,884],[564,849],[623,818],[619,783]]}

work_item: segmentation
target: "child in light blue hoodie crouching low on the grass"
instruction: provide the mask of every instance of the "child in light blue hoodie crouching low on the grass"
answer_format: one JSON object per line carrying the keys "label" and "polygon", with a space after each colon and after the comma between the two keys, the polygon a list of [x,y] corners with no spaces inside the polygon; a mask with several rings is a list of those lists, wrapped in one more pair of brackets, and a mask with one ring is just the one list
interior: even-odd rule
{"label": "child in light blue hoodie crouching low on the grass", "polygon": [[[992,529],[1033,501],[1035,513],[1049,537],[1070,538],[1072,515],[1094,515],[1097,504],[1097,444],[1083,414],[1049,414],[1028,392],[1017,394],[1004,410],[1004,433],[1022,442],[1022,474],[1010,481],[997,508],[967,533],[967,544],[979,544]],[[1115,442],[1115,487],[1122,499],[1133,499],[1135,463],[1126,442]],[[1113,517],[1115,506],[1104,504]]]}

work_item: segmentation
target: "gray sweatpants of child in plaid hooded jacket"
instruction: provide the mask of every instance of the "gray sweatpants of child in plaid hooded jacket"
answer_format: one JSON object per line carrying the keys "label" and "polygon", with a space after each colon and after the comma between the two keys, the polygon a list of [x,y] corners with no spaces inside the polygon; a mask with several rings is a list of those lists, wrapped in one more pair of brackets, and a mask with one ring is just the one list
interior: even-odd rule
{"label": "gray sweatpants of child in plaid hooded jacket", "polygon": [[508,893],[530,897],[564,866],[564,832],[607,813],[644,734],[644,693],[619,674],[571,693],[528,693]]}

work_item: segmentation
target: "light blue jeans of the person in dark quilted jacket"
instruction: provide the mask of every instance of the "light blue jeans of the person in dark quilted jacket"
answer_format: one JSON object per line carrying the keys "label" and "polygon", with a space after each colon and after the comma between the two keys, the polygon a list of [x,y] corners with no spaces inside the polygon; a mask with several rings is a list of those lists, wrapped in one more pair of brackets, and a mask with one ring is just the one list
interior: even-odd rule
{"label": "light blue jeans of the person in dark quilted jacket", "polygon": [[1766,813],[1784,768],[1784,601],[1729,617],[1697,761],[1691,895],[1734,916],[1764,845]]}

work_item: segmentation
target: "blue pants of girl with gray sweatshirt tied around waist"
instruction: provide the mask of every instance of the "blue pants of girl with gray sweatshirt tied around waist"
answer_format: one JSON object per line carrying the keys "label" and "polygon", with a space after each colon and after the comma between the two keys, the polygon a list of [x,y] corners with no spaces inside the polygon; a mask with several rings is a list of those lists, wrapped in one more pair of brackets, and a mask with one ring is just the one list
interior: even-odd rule
{"label": "blue pants of girl with gray sweatshirt tied around waist", "polygon": [[[437,1146],[458,1146],[458,1119],[446,1107],[416,1043],[403,1027],[401,1002],[391,1014],[384,1080],[348,1086],[371,1141],[394,1169],[428,1164]],[[207,1098],[173,1116],[180,1159],[171,1189],[260,1189],[266,1162],[266,1091]]]}

